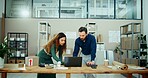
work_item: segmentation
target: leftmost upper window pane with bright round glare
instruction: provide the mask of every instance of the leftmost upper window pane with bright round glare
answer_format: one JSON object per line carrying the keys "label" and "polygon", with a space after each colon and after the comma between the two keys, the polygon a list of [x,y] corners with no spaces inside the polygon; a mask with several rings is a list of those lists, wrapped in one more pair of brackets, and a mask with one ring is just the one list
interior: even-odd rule
{"label": "leftmost upper window pane with bright round glare", "polygon": [[32,0],[6,0],[6,17],[31,17]]}

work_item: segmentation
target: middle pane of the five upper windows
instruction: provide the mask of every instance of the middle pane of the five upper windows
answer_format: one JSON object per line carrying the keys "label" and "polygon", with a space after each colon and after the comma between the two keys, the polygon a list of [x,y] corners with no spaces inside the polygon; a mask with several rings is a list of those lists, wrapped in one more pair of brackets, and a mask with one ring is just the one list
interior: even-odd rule
{"label": "middle pane of the five upper windows", "polygon": [[60,18],[86,18],[87,0],[61,0]]}

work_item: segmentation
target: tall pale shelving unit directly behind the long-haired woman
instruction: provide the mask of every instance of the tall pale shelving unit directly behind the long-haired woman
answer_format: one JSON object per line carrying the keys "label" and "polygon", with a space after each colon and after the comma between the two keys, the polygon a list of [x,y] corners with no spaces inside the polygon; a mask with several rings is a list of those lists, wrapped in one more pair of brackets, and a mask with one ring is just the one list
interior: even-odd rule
{"label": "tall pale shelving unit directly behind the long-haired woman", "polygon": [[38,23],[38,52],[49,41],[51,34],[51,26],[46,21]]}

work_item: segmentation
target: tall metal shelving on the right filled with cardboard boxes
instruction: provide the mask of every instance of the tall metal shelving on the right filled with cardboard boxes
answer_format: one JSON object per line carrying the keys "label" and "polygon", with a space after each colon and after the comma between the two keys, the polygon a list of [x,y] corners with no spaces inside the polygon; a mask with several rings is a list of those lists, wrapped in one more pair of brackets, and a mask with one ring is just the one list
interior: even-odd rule
{"label": "tall metal shelving on the right filled with cardboard boxes", "polygon": [[130,23],[120,27],[121,51],[120,62],[146,66],[147,50],[142,51],[143,44],[138,38],[141,37],[141,23]]}

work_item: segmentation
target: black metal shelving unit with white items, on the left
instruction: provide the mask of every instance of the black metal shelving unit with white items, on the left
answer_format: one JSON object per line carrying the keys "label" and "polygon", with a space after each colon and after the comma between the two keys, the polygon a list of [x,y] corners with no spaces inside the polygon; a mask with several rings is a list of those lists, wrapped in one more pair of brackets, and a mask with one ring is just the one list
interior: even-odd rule
{"label": "black metal shelving unit with white items, on the left", "polygon": [[8,32],[8,47],[11,48],[11,56],[8,56],[7,63],[25,63],[28,56],[28,33]]}

